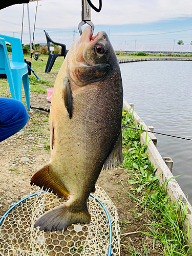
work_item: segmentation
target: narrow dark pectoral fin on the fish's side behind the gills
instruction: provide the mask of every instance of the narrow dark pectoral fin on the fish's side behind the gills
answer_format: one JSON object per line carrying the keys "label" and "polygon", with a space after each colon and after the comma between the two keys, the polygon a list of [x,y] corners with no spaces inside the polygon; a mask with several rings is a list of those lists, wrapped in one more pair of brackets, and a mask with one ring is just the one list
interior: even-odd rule
{"label": "narrow dark pectoral fin on the fish's side behind the gills", "polygon": [[64,80],[64,100],[65,106],[69,113],[69,118],[71,119],[73,116],[73,96],[71,91],[71,86],[68,77]]}

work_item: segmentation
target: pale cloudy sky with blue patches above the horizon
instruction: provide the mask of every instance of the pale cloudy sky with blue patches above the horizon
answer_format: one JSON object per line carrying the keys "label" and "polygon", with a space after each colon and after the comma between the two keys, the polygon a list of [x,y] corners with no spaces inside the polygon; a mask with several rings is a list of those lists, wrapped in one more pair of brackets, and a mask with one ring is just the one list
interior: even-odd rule
{"label": "pale cloudy sky with blue patches above the horizon", "polygon": [[[98,7],[98,0],[92,3]],[[21,38],[24,5],[0,10],[0,34]],[[37,10],[37,12],[36,12]],[[44,30],[67,49],[79,37],[81,0],[41,0],[29,3],[31,40],[34,22],[34,42],[46,42]],[[121,44],[174,44],[192,41],[191,0],[102,0],[99,13],[91,10],[94,34],[106,31],[113,46]],[[84,28],[84,26],[82,27]],[[75,32],[73,32],[75,31]],[[23,44],[29,44],[27,4],[24,7]]]}

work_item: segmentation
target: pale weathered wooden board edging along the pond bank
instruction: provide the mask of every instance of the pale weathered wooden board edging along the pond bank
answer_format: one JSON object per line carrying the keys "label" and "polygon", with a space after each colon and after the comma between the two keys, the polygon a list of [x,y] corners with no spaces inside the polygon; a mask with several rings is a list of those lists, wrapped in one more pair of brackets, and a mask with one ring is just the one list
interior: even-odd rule
{"label": "pale weathered wooden board edging along the pond bank", "polygon": [[[125,99],[123,99],[123,108],[125,110],[129,111],[131,109],[131,105],[127,103]],[[140,117],[137,115],[137,113],[134,111],[133,113],[134,121],[137,124],[138,122],[143,125],[143,129],[146,130],[146,124],[140,119]],[[146,133],[143,132],[141,134],[141,143],[145,144],[146,139]],[[154,165],[154,168],[157,169],[156,176],[160,176],[159,183],[162,185],[165,181],[165,179],[173,178],[173,174],[170,172],[169,168],[163,161],[163,158],[161,157],[159,151],[155,147],[154,143],[152,142],[152,139],[150,137],[150,133],[147,134],[147,153],[148,153],[148,159],[150,162]],[[183,193],[181,187],[177,183],[176,179],[173,178],[170,180],[164,189],[167,191],[168,196],[170,197],[170,200],[174,202],[182,203],[183,209],[185,210],[187,208],[187,216],[184,220],[184,223],[186,224],[186,227],[189,228],[189,234],[190,234],[190,241],[192,241],[192,207],[190,203],[187,201],[185,194]]]}

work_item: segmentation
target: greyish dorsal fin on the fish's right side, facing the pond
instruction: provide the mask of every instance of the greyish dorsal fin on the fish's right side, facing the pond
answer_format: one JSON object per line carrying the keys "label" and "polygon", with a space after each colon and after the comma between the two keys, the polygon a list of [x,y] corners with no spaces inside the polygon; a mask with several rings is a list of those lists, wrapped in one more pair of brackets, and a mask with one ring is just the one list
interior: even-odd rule
{"label": "greyish dorsal fin on the fish's right side, facing the pond", "polygon": [[122,153],[122,132],[119,134],[117,143],[115,144],[112,152],[104,161],[103,169],[114,169],[117,166],[121,165],[123,162],[123,153]]}

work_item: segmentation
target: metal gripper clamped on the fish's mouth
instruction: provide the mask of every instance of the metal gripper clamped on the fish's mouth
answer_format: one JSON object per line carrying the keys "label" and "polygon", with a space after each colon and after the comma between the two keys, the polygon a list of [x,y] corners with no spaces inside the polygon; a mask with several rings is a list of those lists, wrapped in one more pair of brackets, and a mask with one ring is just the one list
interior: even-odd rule
{"label": "metal gripper clamped on the fish's mouth", "polygon": [[82,0],[82,12],[81,12],[81,17],[82,17],[82,21],[79,23],[78,25],[78,30],[80,35],[82,34],[82,30],[81,27],[84,24],[88,24],[91,27],[91,37],[93,36],[93,32],[94,32],[94,24],[91,22],[91,7],[88,4],[87,0]]}

